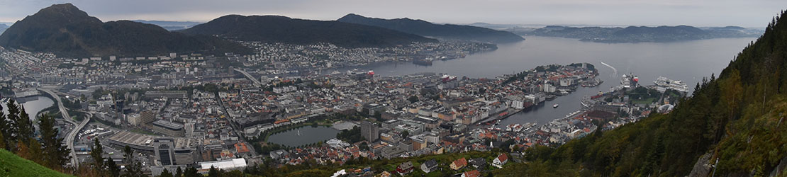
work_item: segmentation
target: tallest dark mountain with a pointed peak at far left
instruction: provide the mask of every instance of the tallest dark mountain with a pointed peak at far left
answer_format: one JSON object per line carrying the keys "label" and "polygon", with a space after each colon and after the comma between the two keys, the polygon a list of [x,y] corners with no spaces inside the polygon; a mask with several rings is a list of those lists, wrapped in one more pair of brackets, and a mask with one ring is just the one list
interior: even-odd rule
{"label": "tallest dark mountain with a pointed peak at far left", "polygon": [[72,4],[53,5],[18,21],[0,35],[0,46],[60,57],[251,53],[245,46],[212,36],[185,35],[128,20],[102,22]]}

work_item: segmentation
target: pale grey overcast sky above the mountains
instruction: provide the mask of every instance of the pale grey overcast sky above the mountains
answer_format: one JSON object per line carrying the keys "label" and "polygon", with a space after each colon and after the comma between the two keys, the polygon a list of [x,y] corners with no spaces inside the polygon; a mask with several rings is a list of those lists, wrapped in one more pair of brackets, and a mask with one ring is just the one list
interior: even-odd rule
{"label": "pale grey overcast sky above the mountains", "polygon": [[0,0],[0,22],[71,2],[101,20],[190,20],[227,14],[336,20],[347,13],[436,23],[735,25],[763,28],[787,0]]}

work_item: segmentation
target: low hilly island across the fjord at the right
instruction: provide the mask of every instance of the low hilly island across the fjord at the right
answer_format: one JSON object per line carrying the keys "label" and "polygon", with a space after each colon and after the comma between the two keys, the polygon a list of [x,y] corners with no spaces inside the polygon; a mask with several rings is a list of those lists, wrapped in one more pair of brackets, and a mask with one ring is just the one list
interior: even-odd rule
{"label": "low hilly island across the fjord at the right", "polygon": [[698,39],[758,37],[761,30],[741,27],[695,28],[692,26],[660,26],[602,28],[547,26],[545,28],[508,28],[519,35],[551,36],[589,42],[678,42]]}

